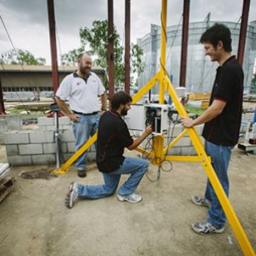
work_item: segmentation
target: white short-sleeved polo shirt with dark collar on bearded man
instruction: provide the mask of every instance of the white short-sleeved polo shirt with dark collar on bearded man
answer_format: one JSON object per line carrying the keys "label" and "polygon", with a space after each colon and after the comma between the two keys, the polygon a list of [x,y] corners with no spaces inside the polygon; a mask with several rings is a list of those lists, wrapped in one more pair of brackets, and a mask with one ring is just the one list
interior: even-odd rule
{"label": "white short-sleeved polo shirt with dark collar on bearded man", "polygon": [[98,97],[103,95],[105,88],[98,76],[90,72],[87,81],[76,73],[67,75],[61,82],[56,96],[70,101],[70,109],[76,112],[91,114],[100,110]]}

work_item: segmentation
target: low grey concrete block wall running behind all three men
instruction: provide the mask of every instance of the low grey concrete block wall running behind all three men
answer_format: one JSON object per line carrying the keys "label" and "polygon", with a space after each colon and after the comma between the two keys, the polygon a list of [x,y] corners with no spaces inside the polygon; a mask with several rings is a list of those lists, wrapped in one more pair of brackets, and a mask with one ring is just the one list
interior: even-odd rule
{"label": "low grey concrete block wall running behind all three men", "polygon": [[[242,115],[242,124],[248,124],[253,120],[253,113]],[[75,137],[72,131],[70,119],[66,116],[59,118],[59,131],[62,141],[62,153],[64,160],[69,159],[75,153]],[[14,165],[24,164],[55,164],[56,143],[54,141],[54,119],[41,117],[38,118],[38,130],[10,131],[12,129],[21,130],[22,123],[19,115],[0,116],[0,134],[6,144],[8,163]],[[170,126],[168,135],[165,135],[164,146],[178,136],[184,128],[181,124]],[[203,125],[196,127],[198,135],[203,141]],[[133,133],[133,132],[131,132]],[[136,132],[134,132],[138,135]],[[1,139],[1,136],[0,136]],[[1,141],[0,141],[1,142]],[[151,143],[147,140],[142,142],[142,147],[151,150]],[[95,147],[92,145],[87,150],[88,160],[96,159]],[[196,151],[188,135],[171,147],[169,155],[196,155]]]}

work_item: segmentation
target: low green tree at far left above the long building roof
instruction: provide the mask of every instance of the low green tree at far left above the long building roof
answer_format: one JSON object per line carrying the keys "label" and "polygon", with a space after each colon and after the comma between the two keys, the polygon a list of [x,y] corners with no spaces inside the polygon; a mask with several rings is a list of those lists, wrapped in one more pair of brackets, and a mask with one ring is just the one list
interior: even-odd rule
{"label": "low green tree at far left above the long building roof", "polygon": [[24,65],[43,65],[46,64],[45,58],[36,58],[32,53],[26,50],[9,50],[1,54],[2,64],[24,64]]}

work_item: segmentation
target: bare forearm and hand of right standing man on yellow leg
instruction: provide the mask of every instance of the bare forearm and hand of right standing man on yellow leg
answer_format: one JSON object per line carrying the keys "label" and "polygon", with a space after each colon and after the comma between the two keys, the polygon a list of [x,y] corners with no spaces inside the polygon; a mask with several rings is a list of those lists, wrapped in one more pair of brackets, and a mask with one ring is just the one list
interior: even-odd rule
{"label": "bare forearm and hand of right standing man on yellow leg", "polygon": [[209,109],[207,109],[203,114],[198,116],[197,119],[192,120],[191,118],[186,117],[181,120],[181,124],[184,125],[186,128],[190,128],[195,125],[207,123],[210,120],[213,120],[217,115],[221,114],[221,112],[225,108],[225,104],[225,102],[214,99],[214,102],[209,106]]}

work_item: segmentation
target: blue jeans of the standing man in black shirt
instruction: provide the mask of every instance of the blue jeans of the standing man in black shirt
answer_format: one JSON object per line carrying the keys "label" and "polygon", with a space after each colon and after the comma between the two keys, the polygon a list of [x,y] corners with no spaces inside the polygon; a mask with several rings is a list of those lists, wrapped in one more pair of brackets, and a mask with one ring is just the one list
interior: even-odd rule
{"label": "blue jeans of the standing man in black shirt", "polygon": [[[231,160],[231,149],[233,147],[219,146],[207,141],[205,141],[204,146],[205,152],[212,158],[214,171],[220,180],[226,196],[228,197],[230,183],[227,170]],[[217,228],[223,227],[226,220],[225,212],[220,205],[219,199],[217,198],[209,179],[207,180],[205,198],[211,203],[211,207],[209,209],[209,222]]]}

